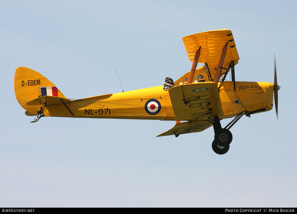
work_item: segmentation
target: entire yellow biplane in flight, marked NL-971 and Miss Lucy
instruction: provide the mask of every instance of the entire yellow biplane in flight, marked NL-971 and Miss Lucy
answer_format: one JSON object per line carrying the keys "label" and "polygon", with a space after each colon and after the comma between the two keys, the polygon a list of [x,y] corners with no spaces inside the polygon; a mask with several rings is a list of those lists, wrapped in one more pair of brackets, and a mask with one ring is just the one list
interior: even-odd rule
{"label": "entire yellow biplane in flight, marked NL-971 and Miss Lucy", "polygon": [[[32,122],[43,116],[173,120],[175,126],[158,136],[176,137],[213,126],[212,148],[217,154],[225,154],[232,141],[229,129],[238,119],[271,110],[273,96],[277,111],[276,69],[274,84],[237,82],[234,66],[239,57],[230,30],[192,34],[183,40],[192,69],[169,89],[157,86],[70,100],[40,73],[18,67],[15,96],[26,115],[37,116]],[[198,63],[204,65],[196,69]],[[231,81],[225,80],[228,72]],[[222,128],[220,120],[231,117],[235,118]]]}

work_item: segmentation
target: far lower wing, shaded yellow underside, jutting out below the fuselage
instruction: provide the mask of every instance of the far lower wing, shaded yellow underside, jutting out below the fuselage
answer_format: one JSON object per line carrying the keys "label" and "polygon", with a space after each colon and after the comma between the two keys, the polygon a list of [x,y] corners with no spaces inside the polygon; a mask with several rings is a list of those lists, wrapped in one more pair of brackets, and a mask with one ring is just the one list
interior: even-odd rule
{"label": "far lower wing, shaded yellow underside, jutting out below the fuselage", "polygon": [[169,129],[167,132],[159,134],[157,137],[173,135],[177,137],[179,134],[186,134],[192,132],[201,132],[208,127],[211,127],[212,123],[209,121],[192,121],[192,122],[183,122],[176,124],[172,129]]}

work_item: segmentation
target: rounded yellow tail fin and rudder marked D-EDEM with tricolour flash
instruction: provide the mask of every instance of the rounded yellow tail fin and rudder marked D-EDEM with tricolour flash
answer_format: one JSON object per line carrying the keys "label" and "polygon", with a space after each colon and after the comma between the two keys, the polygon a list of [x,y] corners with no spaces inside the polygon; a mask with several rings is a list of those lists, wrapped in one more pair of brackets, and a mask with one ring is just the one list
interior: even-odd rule
{"label": "rounded yellow tail fin and rudder marked D-EDEM with tricolour flash", "polygon": [[37,115],[41,105],[27,105],[30,100],[47,95],[66,98],[56,86],[40,73],[25,67],[15,70],[15,97],[20,105],[26,109],[26,115]]}

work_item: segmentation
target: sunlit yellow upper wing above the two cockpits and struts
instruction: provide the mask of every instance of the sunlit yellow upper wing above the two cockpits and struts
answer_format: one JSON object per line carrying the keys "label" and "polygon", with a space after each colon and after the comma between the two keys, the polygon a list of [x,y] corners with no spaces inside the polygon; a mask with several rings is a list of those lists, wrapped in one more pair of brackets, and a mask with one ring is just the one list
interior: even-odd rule
{"label": "sunlit yellow upper wing above the two cockpits and struts", "polygon": [[[199,47],[201,47],[201,54],[198,63],[206,63],[208,65],[208,68],[206,69],[209,69],[209,77],[205,73],[204,67],[196,69],[194,77],[197,77],[198,74],[203,75],[203,73],[205,73],[203,75],[205,78],[211,79],[211,77],[214,77],[219,64],[222,48],[226,43],[228,43],[228,48],[222,67],[228,68],[228,65],[231,61],[234,61],[234,65],[238,63],[239,56],[236,50],[232,32],[230,30],[223,29],[196,33],[185,36],[183,41],[191,61],[194,60],[196,51],[199,49]],[[225,73],[226,70],[223,69],[222,72]],[[178,85],[180,82],[182,82],[184,77],[188,78],[189,72],[174,82],[174,85]]]}

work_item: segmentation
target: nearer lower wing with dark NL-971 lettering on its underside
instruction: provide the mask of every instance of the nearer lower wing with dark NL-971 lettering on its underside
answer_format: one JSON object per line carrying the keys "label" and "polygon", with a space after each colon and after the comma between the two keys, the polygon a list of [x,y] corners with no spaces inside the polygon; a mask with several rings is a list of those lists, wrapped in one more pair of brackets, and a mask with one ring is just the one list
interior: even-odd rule
{"label": "nearer lower wing with dark NL-971 lettering on its underside", "polygon": [[206,120],[223,116],[217,84],[199,82],[169,89],[173,112],[178,120]]}

